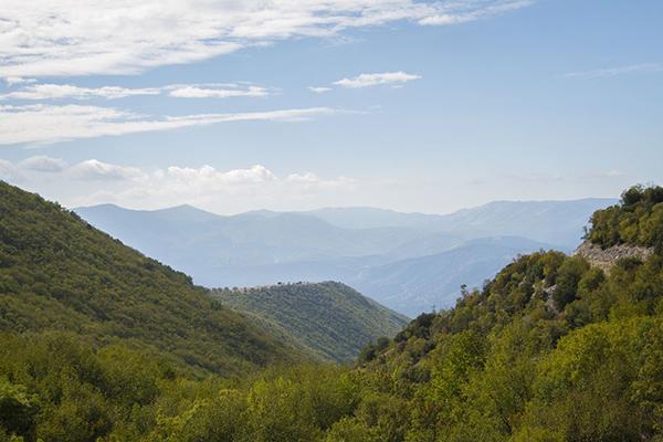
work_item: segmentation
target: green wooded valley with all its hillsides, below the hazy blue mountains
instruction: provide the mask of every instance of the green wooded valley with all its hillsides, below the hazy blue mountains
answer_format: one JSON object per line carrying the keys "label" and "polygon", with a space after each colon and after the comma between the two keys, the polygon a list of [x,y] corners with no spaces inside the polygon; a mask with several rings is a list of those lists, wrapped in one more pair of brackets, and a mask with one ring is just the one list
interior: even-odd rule
{"label": "green wooded valley with all its hillsides, below the hazy blue mountains", "polygon": [[0,441],[653,442],[661,208],[629,189],[590,261],[539,248],[409,322],[335,282],[208,291],[0,183]]}

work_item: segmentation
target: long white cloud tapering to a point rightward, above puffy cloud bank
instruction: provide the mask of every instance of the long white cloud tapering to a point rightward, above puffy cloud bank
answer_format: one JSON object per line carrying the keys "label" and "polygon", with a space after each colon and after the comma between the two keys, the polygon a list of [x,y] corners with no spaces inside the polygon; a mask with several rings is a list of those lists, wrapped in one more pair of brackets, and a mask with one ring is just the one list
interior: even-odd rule
{"label": "long white cloud tapering to a point rightward, above puffy cloud bank", "polygon": [[0,106],[0,145],[49,144],[77,138],[169,130],[230,122],[297,122],[337,110],[329,107],[151,118],[112,107]]}

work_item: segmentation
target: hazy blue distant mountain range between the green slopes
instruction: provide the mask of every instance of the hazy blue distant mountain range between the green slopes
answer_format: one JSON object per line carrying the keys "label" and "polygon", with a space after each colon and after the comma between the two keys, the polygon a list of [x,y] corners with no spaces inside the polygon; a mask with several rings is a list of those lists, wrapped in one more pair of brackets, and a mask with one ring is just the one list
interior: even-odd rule
{"label": "hazy blue distant mountain range between the green slopes", "polygon": [[450,306],[519,253],[570,251],[612,199],[498,201],[448,215],[372,208],[218,215],[190,206],[75,211],[208,287],[343,281],[409,316]]}

